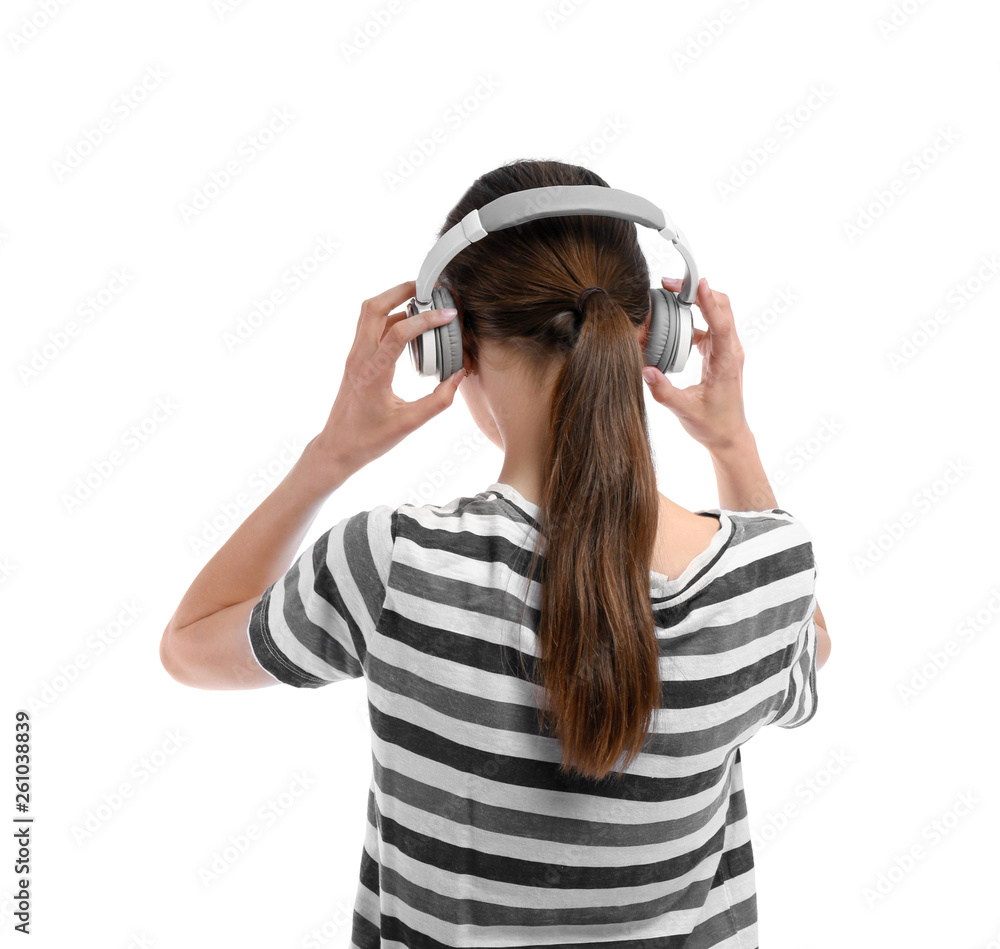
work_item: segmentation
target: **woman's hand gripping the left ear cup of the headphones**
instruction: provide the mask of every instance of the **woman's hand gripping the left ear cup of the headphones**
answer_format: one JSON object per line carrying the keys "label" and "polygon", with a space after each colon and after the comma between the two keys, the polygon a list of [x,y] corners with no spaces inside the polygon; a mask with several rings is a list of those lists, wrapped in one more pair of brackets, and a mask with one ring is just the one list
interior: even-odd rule
{"label": "woman's hand gripping the left ear cup of the headphones", "polygon": [[354,345],[347,355],[344,378],[323,431],[310,443],[332,471],[358,471],[399,444],[410,432],[443,412],[455,399],[464,378],[459,369],[434,391],[414,402],[392,391],[396,360],[411,339],[457,316],[427,310],[410,319],[406,311],[392,313],[416,293],[413,280],[365,300],[361,305]]}

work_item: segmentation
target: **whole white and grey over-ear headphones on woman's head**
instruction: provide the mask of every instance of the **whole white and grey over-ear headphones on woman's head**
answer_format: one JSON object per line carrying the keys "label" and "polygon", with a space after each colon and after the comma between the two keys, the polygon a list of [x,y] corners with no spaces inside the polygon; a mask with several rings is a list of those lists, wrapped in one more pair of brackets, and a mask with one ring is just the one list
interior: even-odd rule
{"label": "whole white and grey over-ear headphones on woman's head", "polygon": [[[417,276],[416,296],[406,305],[406,316],[427,310],[454,307],[455,297],[447,287],[435,287],[441,271],[474,241],[493,231],[516,227],[545,217],[596,214],[651,227],[670,241],[684,258],[684,281],[680,293],[653,287],[649,291],[649,338],[643,351],[647,366],[660,372],[680,372],[687,362],[694,339],[691,304],[698,292],[698,268],[680,229],[656,205],[628,191],[601,185],[555,185],[528,188],[501,195],[470,211],[449,228],[431,248]],[[410,340],[410,362],[421,376],[447,379],[462,368],[462,330],[458,317],[435,326]]]}

